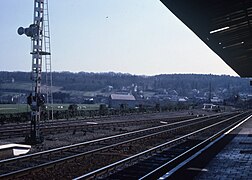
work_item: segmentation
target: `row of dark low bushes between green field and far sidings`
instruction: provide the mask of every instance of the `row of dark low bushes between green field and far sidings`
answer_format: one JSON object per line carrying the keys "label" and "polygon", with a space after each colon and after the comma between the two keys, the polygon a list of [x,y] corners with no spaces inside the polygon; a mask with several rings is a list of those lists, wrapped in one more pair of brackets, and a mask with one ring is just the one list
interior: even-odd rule
{"label": "row of dark low bushes between green field and far sidings", "polygon": [[[137,113],[153,113],[161,111],[180,111],[189,109],[188,105],[167,105],[160,106],[157,104],[155,107],[139,106],[138,108],[121,108],[121,109],[109,109],[106,106],[101,105],[99,110],[78,110],[75,106],[69,106],[68,110],[54,110],[53,119],[81,119],[81,118],[93,118],[104,116],[118,116]],[[52,111],[42,111],[41,121],[52,119]],[[22,123],[30,120],[30,112],[25,113],[13,113],[13,114],[0,114],[0,124],[5,123]]]}

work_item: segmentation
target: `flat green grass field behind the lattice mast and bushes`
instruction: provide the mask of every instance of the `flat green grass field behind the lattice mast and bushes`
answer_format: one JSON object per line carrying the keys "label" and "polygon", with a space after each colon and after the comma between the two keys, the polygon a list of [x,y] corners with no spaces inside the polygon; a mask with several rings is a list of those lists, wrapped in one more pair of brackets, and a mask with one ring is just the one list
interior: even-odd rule
{"label": "flat green grass field behind the lattice mast and bushes", "polygon": [[[70,104],[54,104],[53,110],[67,110]],[[51,107],[49,106],[49,109]],[[79,110],[98,110],[99,104],[78,104]],[[0,104],[0,114],[22,113],[30,111],[27,104]]]}

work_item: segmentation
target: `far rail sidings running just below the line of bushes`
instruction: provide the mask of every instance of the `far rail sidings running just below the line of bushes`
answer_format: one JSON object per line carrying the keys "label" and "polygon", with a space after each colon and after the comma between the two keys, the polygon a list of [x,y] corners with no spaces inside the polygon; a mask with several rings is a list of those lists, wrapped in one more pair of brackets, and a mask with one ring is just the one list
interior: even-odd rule
{"label": "far rail sidings running just below the line of bushes", "polygon": [[[69,131],[95,131],[98,129],[118,129],[130,126],[144,125],[145,127],[160,125],[160,121],[175,122],[189,119],[195,116],[155,116],[152,118],[142,119],[138,116],[132,116],[128,120],[120,120],[120,118],[102,118],[102,119],[77,119],[77,120],[55,120],[44,121],[41,123],[41,131],[43,135],[65,133]],[[24,137],[30,132],[30,124],[10,124],[0,127],[0,139]]]}

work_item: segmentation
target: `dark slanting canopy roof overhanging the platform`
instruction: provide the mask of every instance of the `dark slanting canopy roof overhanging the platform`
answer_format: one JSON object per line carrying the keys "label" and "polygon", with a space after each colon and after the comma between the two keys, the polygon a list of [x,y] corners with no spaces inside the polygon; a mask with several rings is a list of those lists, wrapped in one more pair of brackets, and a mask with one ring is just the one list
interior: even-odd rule
{"label": "dark slanting canopy roof overhanging the platform", "polygon": [[241,77],[252,77],[252,0],[161,0]]}

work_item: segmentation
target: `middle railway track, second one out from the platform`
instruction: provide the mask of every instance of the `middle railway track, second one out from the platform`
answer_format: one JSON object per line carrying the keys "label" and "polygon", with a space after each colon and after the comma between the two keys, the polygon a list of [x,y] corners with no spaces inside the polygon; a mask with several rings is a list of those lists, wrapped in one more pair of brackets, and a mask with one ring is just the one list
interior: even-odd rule
{"label": "middle railway track, second one out from the platform", "polygon": [[[198,129],[206,126],[213,126],[215,123],[234,121],[235,118],[240,116],[241,114],[232,113],[217,117],[206,116],[181,120],[158,127],[2,160],[0,161],[0,178],[46,179],[55,177],[68,179],[85,173],[94,177],[97,176],[94,173],[97,169],[98,174],[104,174],[101,173],[103,172],[101,169],[111,163],[132,158],[136,154],[148,151],[156,146],[159,147],[160,144],[167,144],[170,147],[181,143],[183,141],[181,137],[184,137],[185,134],[199,131]],[[161,149],[164,149],[164,147],[159,148],[159,151]]]}

